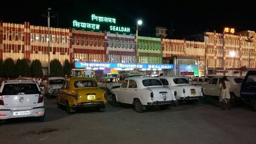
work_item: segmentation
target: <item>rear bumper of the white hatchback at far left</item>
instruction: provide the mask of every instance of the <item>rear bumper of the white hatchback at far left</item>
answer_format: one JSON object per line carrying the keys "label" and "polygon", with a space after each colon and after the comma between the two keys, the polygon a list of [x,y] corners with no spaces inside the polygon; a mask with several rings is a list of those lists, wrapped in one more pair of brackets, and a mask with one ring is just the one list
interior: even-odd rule
{"label": "rear bumper of the white hatchback at far left", "polygon": [[[14,115],[14,112],[29,111],[27,115]],[[39,113],[37,113],[39,112]],[[9,118],[23,118],[23,117],[38,117],[44,115],[44,107],[34,107],[33,109],[22,109],[22,110],[11,110],[11,109],[0,109],[0,120]]]}

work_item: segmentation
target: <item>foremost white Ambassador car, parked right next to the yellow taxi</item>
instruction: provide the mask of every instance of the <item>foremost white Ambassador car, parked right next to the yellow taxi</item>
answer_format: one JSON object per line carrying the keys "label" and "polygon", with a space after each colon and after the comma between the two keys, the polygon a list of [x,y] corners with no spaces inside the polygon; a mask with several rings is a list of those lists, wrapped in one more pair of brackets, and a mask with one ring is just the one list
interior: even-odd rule
{"label": "foremost white Ambassador car, parked right next to the yellow taxi", "polygon": [[113,106],[133,104],[136,112],[143,112],[146,106],[154,105],[166,109],[175,103],[175,95],[174,89],[164,87],[157,78],[148,76],[126,78],[120,88],[112,89]]}

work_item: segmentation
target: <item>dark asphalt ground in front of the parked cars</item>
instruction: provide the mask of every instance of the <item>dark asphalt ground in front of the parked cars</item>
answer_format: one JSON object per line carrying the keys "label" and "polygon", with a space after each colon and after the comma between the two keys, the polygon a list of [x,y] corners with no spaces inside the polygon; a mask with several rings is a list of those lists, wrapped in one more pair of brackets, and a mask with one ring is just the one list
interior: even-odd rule
{"label": "dark asphalt ground in front of the parked cars", "polygon": [[[110,101],[111,103],[111,101]],[[253,144],[256,112],[250,107],[221,110],[209,98],[197,105],[183,103],[160,110],[137,113],[130,105],[105,112],[84,109],[67,115],[56,99],[45,99],[43,123],[33,118],[11,119],[0,126],[2,144]]]}

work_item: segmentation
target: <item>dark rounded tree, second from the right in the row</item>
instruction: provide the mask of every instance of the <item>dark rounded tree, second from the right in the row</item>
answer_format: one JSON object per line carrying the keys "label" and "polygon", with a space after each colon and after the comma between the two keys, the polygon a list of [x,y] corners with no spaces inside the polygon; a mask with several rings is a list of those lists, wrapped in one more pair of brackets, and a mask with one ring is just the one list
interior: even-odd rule
{"label": "dark rounded tree, second from the right in the row", "polygon": [[61,76],[63,74],[63,69],[61,66],[61,62],[55,58],[50,62],[50,76]]}

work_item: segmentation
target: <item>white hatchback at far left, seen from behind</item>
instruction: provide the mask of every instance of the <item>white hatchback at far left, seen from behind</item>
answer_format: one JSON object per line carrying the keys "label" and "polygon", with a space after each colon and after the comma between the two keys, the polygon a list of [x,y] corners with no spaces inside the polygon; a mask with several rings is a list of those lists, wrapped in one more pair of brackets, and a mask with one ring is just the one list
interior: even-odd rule
{"label": "white hatchback at far left, seen from behind", "polygon": [[38,117],[44,121],[44,97],[37,83],[6,81],[0,87],[0,124],[8,118]]}

